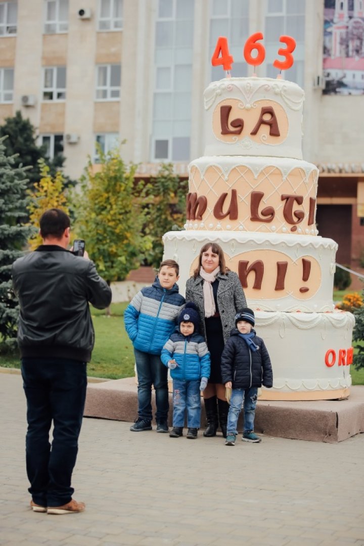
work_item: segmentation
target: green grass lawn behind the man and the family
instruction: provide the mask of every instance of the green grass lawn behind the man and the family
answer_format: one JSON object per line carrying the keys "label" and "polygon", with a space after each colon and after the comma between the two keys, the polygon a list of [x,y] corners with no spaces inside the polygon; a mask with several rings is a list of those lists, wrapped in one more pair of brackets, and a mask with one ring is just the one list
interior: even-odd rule
{"label": "green grass lawn behind the man and the family", "polygon": [[[92,360],[87,366],[88,376],[108,379],[134,376],[133,346],[126,334],[123,318],[127,305],[127,302],[112,304],[111,317],[106,317],[105,311],[91,307],[95,347]],[[19,357],[0,355],[0,366],[19,368]],[[355,370],[355,367],[351,366],[350,373],[353,385],[364,385],[364,369]]]}

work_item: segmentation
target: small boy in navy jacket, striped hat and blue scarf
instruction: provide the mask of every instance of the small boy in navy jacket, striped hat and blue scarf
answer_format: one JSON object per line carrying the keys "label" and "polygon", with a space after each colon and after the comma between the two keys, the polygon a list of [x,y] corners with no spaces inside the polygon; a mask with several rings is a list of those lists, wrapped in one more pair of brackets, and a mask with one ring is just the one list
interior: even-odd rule
{"label": "small boy in navy jacket, striped hat and blue scarf", "polygon": [[236,425],[243,404],[244,431],[242,440],[261,441],[254,434],[254,414],[258,388],[271,388],[273,372],[268,351],[261,337],[255,334],[254,312],[245,307],[235,316],[235,326],[226,341],[221,357],[221,373],[226,393],[232,389],[225,446],[235,446]]}

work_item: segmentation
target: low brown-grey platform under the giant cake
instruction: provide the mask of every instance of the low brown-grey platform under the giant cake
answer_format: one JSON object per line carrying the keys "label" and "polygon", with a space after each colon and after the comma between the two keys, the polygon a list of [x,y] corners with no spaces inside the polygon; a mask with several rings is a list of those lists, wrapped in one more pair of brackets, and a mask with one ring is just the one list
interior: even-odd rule
{"label": "low brown-grey platform under the giant cake", "polygon": [[[170,394],[170,407],[172,396]],[[154,400],[153,400],[153,413]],[[102,383],[89,383],[85,417],[134,422],[138,414],[134,377]],[[170,425],[172,411],[170,410]],[[205,423],[202,403],[201,424]],[[242,430],[242,415],[238,423]],[[351,387],[348,400],[263,401],[255,413],[259,434],[296,440],[336,443],[364,432],[364,385]]]}

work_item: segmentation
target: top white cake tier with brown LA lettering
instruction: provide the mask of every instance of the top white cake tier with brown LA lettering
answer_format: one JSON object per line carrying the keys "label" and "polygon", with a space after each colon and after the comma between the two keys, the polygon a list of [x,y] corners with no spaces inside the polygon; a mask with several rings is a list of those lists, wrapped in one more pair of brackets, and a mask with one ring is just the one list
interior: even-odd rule
{"label": "top white cake tier with brown LA lettering", "polygon": [[205,90],[205,156],[302,159],[305,93],[291,81],[224,78]]}

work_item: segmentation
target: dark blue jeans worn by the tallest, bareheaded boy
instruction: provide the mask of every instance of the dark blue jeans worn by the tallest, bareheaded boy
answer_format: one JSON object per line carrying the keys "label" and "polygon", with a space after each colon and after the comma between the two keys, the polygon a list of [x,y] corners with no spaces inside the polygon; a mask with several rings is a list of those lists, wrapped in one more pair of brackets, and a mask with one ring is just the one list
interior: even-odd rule
{"label": "dark blue jeans worn by the tallest, bareheaded boy", "polygon": [[143,353],[134,348],[136,373],[138,373],[138,416],[152,420],[152,385],[156,390],[156,421],[168,419],[168,369],[158,354]]}

